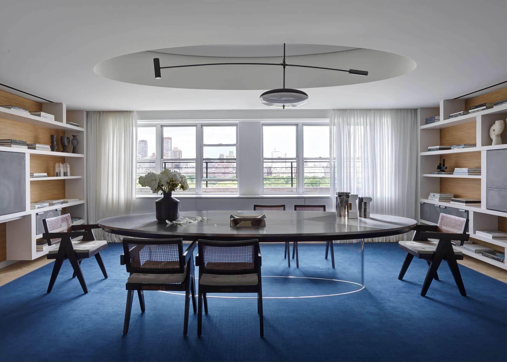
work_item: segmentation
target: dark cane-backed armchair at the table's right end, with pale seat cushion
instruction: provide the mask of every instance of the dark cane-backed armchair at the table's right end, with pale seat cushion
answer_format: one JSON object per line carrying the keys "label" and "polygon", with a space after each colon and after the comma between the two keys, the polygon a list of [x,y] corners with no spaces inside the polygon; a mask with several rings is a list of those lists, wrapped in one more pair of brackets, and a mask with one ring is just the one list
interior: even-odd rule
{"label": "dark cane-backed armchair at the table's right end, with pale seat cushion", "polygon": [[[468,219],[441,213],[439,223],[434,225],[417,225],[412,241],[400,241],[400,247],[407,251],[398,279],[402,280],[414,257],[426,260],[428,271],[422,284],[421,296],[425,296],[433,279],[439,280],[437,270],[442,260],[447,260],[459,293],[466,296],[457,260],[463,260],[463,252],[453,246],[451,242],[458,242],[460,246],[468,241]],[[428,239],[438,239],[429,241]]]}

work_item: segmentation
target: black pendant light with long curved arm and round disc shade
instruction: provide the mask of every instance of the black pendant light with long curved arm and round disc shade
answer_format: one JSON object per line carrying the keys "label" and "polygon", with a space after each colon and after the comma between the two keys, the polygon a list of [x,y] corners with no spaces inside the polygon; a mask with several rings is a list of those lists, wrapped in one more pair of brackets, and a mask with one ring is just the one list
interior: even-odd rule
{"label": "black pendant light with long curved arm and round disc shade", "polygon": [[338,70],[338,71],[346,71],[348,74],[353,74],[357,76],[368,76],[367,70],[357,70],[357,69],[337,69],[337,68],[327,68],[322,66],[312,66],[312,65],[298,65],[298,64],[287,64],[285,62],[285,43],[283,43],[283,60],[281,63],[207,63],[207,64],[188,64],[188,65],[173,65],[173,66],[160,66],[160,59],[153,58],[153,65],[155,68],[155,79],[161,79],[162,75],[160,73],[160,69],[166,68],[182,68],[189,66],[203,66],[203,65],[281,65],[283,67],[283,88],[272,89],[261,94],[260,99],[261,103],[274,108],[292,108],[297,107],[298,105],[305,104],[308,100],[308,94],[305,92],[292,89],[285,88],[285,67],[287,66],[299,66],[304,68],[315,68],[315,69],[327,69],[327,70]]}

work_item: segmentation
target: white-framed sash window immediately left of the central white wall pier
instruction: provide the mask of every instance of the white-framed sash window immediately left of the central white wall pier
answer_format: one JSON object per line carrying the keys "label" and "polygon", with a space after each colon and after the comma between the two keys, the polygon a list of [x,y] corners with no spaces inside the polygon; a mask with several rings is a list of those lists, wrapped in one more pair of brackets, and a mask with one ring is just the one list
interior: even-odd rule
{"label": "white-framed sash window immediately left of the central white wall pier", "polygon": [[202,193],[237,193],[237,126],[202,126]]}

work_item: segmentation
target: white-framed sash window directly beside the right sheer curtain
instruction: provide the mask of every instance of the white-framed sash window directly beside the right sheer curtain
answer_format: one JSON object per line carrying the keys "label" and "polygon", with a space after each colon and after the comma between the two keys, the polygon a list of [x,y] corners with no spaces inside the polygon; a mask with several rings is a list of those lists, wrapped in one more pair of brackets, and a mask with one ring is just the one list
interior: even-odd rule
{"label": "white-framed sash window directly beside the right sheer curtain", "polygon": [[330,192],[329,126],[303,125],[304,192]]}

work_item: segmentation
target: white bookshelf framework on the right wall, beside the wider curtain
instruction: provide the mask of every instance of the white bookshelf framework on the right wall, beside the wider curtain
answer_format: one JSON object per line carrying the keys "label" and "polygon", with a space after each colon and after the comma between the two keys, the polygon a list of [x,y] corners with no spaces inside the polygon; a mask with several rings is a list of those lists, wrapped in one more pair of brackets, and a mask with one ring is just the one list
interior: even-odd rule
{"label": "white bookshelf framework on the right wall, beside the wider curtain", "polygon": [[[486,208],[486,153],[488,150],[499,150],[507,149],[507,143],[492,146],[491,138],[489,137],[489,129],[493,123],[498,119],[505,120],[507,118],[507,104],[503,104],[498,107],[490,108],[482,112],[473,113],[470,115],[464,115],[449,119],[449,114],[459,112],[464,109],[464,100],[443,100],[440,102],[440,107],[433,108],[419,108],[418,110],[418,150],[419,150],[419,162],[417,167],[417,179],[418,179],[418,196],[417,199],[420,202],[452,207],[456,209],[468,211],[469,226],[468,232],[470,238],[474,243],[490,243],[500,247],[504,250],[507,246],[505,240],[488,239],[476,234],[479,230],[496,230],[498,228],[498,217],[507,217],[507,212],[489,210]],[[424,124],[424,120],[427,117],[440,115],[440,119],[443,121],[431,123],[428,125]],[[442,150],[442,151],[427,151],[429,146],[438,146],[440,144],[440,132],[442,129],[448,127],[454,127],[467,123],[475,124],[476,130],[476,147],[457,149],[457,150]],[[470,126],[474,127],[474,126]],[[503,136],[504,137],[504,136]],[[506,142],[504,138],[502,141]],[[470,142],[472,143],[472,142]],[[456,143],[454,143],[456,144]],[[452,146],[452,145],[446,145]],[[431,171],[435,171],[437,165],[440,162],[441,155],[450,154],[462,154],[462,157],[466,159],[467,153],[480,152],[481,153],[481,175],[442,175],[442,174],[431,174]],[[461,157],[461,156],[460,156]],[[444,157],[445,158],[445,157]],[[473,167],[470,165],[469,167]],[[507,167],[507,161],[506,161]],[[453,182],[451,179],[479,179],[481,187],[481,205],[459,205],[450,202],[432,201],[428,200],[427,197],[430,192],[440,191],[441,180],[447,179],[447,182]],[[463,180],[464,182],[464,180]],[[417,208],[417,219],[421,224],[426,225],[437,225],[427,220],[420,218],[420,209]],[[504,263],[495,261],[484,257],[480,253],[475,253],[463,248],[460,248],[463,254],[485,263],[494,265],[501,269],[507,270],[507,265]]]}

